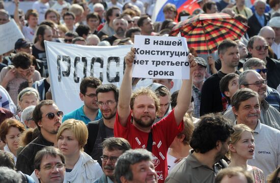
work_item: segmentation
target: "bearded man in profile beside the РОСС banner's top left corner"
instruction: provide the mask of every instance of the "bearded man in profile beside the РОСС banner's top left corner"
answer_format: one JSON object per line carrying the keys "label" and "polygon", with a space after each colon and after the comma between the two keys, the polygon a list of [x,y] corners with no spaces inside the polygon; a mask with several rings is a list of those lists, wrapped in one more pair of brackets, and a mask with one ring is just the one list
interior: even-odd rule
{"label": "bearded man in profile beside the \u0420\u041e\u0421\u0421 banner's top left corner", "polygon": [[44,62],[46,76],[48,76],[48,65],[44,40],[52,41],[52,29],[48,25],[40,25],[37,29],[35,43],[32,46],[32,55]]}

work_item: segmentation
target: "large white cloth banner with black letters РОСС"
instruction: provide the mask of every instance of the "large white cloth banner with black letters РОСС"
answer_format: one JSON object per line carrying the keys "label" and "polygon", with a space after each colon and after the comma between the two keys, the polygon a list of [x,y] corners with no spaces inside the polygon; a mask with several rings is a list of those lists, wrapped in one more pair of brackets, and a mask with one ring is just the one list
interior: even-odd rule
{"label": "large white cloth banner with black letters \u0420\u041e\u0421\u0421", "polygon": [[82,46],[45,41],[53,100],[65,114],[82,106],[79,86],[83,77],[121,86],[124,57],[131,45]]}

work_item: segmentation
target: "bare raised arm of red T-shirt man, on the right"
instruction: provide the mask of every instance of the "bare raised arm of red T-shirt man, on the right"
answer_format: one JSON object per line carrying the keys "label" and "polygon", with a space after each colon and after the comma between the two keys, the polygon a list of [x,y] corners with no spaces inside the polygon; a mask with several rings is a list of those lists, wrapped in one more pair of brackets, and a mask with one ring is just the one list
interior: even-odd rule
{"label": "bare raised arm of red T-shirt man, on the right", "polygon": [[177,97],[177,106],[174,109],[174,115],[177,125],[179,125],[183,120],[183,117],[189,108],[192,90],[192,73],[198,65],[191,54],[188,55],[188,59],[190,66],[189,80],[183,80],[181,89]]}

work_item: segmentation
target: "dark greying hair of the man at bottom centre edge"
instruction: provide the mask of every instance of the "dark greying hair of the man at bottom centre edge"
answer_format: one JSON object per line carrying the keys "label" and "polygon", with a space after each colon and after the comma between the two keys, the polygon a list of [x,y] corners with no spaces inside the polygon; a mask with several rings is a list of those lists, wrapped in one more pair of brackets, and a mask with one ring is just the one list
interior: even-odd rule
{"label": "dark greying hair of the man at bottom centre edge", "polygon": [[151,161],[153,160],[152,153],[147,149],[132,149],[124,152],[118,159],[115,166],[115,178],[118,183],[121,183],[120,178],[122,176],[127,180],[133,179],[133,173],[130,169],[130,165],[139,163],[142,161]]}

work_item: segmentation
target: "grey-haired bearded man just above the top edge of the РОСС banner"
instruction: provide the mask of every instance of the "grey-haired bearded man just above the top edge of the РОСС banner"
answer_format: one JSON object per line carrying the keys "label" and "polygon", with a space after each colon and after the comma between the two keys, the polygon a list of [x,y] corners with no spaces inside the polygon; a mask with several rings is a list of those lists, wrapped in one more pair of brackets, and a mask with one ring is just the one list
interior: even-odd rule
{"label": "grey-haired bearded man just above the top edge of the \u0420\u041e\u0421\u0421 banner", "polygon": [[115,18],[113,21],[113,28],[116,34],[107,37],[106,39],[104,39],[104,41],[108,41],[111,45],[113,45],[116,39],[124,39],[127,25],[128,23],[123,17]]}

